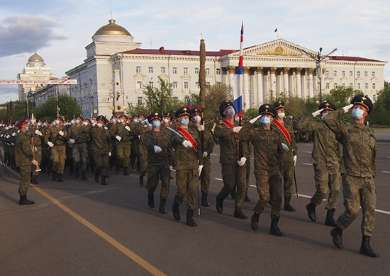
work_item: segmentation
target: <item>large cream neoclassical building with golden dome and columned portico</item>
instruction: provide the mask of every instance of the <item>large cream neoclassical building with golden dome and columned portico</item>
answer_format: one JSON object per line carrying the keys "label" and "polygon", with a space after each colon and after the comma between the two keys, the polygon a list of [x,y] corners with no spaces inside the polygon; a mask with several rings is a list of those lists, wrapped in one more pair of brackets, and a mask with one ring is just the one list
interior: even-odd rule
{"label": "large cream neoclassical building with golden dome and columned portico", "polygon": [[[66,72],[77,79],[70,95],[79,100],[84,116],[121,114],[128,103],[145,102],[143,87],[158,86],[159,78],[172,84],[174,96],[199,93],[199,50],[143,49],[126,28],[110,20],[92,36],[87,59]],[[335,45],[337,46],[337,45]],[[206,41],[207,47],[207,41]],[[258,108],[282,94],[307,98],[338,86],[360,89],[372,100],[384,87],[387,62],[363,57],[331,55],[316,62],[316,54],[278,39],[243,50],[243,108]],[[206,51],[206,83],[230,84],[238,65],[238,50]]]}

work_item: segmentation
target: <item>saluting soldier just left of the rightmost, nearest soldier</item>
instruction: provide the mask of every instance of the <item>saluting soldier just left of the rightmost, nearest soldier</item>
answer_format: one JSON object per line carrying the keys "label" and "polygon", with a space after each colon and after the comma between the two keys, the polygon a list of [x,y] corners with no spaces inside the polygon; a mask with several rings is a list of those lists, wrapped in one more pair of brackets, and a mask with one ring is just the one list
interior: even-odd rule
{"label": "saluting soldier just left of the rightmost, nearest soldier", "polygon": [[[336,140],[335,134],[330,131],[322,118],[328,113],[333,113],[336,106],[324,101],[314,113],[303,117],[299,122],[301,131],[314,132],[314,145],[311,153],[311,162],[314,168],[314,180],[316,180],[316,193],[306,205],[308,218],[316,222],[316,207],[323,202],[329,192],[325,225],[335,227],[337,224],[333,215],[338,204],[340,192],[340,161],[342,158],[342,145]],[[321,114],[321,120],[314,118]]]}

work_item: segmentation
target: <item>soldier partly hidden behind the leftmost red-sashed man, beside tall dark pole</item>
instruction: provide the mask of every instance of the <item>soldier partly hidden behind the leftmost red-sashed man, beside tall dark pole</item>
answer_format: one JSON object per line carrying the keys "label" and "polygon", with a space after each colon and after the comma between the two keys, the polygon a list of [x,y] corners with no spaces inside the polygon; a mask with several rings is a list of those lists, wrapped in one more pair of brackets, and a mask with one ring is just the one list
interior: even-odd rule
{"label": "soldier partly hidden behind the leftmost red-sashed man, beside tall dark pole", "polygon": [[194,108],[191,110],[191,115],[189,116],[191,120],[191,128],[194,128],[201,138],[201,150],[203,152],[202,156],[204,158],[201,172],[201,205],[204,207],[210,207],[210,203],[207,201],[208,188],[210,188],[210,173],[211,173],[211,164],[210,164],[210,154],[214,149],[214,139],[211,132],[205,128],[204,125],[201,125],[201,110]]}

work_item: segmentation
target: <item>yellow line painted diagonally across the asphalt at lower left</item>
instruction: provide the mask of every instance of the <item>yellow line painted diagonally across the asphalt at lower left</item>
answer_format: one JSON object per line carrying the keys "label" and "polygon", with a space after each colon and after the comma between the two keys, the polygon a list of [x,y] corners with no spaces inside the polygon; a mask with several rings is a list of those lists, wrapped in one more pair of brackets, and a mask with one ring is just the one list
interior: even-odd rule
{"label": "yellow line painted diagonally across the asphalt at lower left", "polygon": [[[13,170],[9,170],[9,171],[11,171],[14,175],[18,176],[18,174],[15,171],[13,171]],[[63,205],[61,202],[56,200],[54,197],[49,195],[44,190],[38,188],[36,185],[33,185],[33,184],[31,184],[30,186],[33,187],[34,190],[39,192],[41,195],[43,195],[44,197],[48,198],[48,200],[53,202],[55,205],[60,207],[62,210],[64,210],[68,214],[70,214],[72,217],[74,217],[74,219],[77,219],[79,222],[84,224],[84,226],[87,226],[87,228],[89,228],[91,231],[94,231],[97,235],[101,236],[101,238],[104,238],[106,241],[108,241],[108,243],[111,243],[111,245],[113,247],[115,247],[116,249],[118,249],[118,251],[121,251],[123,254],[128,256],[128,258],[133,260],[135,263],[138,263],[138,265],[140,265],[141,267],[145,268],[145,270],[149,271],[152,275],[155,275],[155,276],[167,276],[164,272],[158,270],[157,268],[155,268],[150,263],[147,263],[147,261],[144,260],[143,258],[141,258],[139,255],[135,254],[133,251],[130,251],[130,249],[126,248],[126,246],[123,246],[123,244],[121,244],[118,241],[116,241],[116,239],[112,238],[111,236],[106,234],[104,231],[102,231],[98,227],[94,226],[94,224],[91,224],[91,222],[88,222],[87,219],[84,219],[82,216],[80,216],[76,212],[72,211],[71,209],[69,209],[68,207]]]}

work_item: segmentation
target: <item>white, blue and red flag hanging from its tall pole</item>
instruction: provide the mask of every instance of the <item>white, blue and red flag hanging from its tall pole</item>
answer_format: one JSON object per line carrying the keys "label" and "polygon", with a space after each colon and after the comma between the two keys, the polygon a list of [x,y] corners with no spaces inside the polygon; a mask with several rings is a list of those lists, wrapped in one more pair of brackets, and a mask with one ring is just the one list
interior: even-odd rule
{"label": "white, blue and red flag hanging from its tall pole", "polygon": [[243,115],[243,96],[241,95],[243,91],[243,41],[244,41],[244,22],[241,25],[241,39],[240,39],[240,60],[238,62],[238,67],[235,69],[235,74],[232,81],[230,82],[233,88],[233,105],[235,112],[238,113],[238,116]]}

